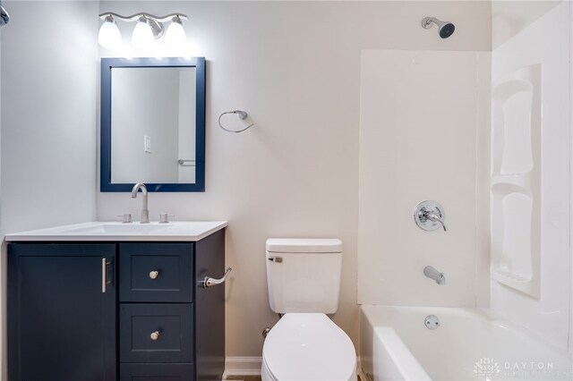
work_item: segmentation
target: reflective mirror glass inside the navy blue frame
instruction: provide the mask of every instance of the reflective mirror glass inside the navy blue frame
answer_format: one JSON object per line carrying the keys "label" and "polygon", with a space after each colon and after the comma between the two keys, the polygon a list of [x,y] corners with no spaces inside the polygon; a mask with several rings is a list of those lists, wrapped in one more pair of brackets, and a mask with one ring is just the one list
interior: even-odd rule
{"label": "reflective mirror glass inside the navy blue frame", "polygon": [[111,76],[111,181],[195,182],[195,68]]}

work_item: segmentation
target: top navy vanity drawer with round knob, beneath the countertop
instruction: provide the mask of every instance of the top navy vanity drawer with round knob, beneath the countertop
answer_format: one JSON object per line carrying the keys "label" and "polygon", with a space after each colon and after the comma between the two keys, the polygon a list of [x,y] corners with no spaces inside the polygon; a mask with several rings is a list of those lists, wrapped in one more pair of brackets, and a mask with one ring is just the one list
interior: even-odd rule
{"label": "top navy vanity drawer with round knob, beneath the countertop", "polygon": [[119,301],[191,302],[194,245],[119,245]]}

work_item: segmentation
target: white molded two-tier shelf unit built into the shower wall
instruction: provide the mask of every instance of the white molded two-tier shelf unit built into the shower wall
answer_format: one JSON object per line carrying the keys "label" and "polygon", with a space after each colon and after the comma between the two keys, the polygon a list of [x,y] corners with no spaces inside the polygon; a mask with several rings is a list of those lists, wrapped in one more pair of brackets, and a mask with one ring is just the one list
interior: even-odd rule
{"label": "white molded two-tier shelf unit built into the shower wall", "polygon": [[492,89],[491,276],[539,298],[541,65],[510,72]]}

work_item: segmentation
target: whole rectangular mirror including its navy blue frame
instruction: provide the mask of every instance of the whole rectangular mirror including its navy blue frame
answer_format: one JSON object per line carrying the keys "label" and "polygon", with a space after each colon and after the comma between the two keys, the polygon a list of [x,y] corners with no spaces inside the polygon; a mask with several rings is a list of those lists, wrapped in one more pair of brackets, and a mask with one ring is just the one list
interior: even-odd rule
{"label": "whole rectangular mirror including its navy blue frame", "polygon": [[205,190],[205,59],[101,59],[101,191]]}

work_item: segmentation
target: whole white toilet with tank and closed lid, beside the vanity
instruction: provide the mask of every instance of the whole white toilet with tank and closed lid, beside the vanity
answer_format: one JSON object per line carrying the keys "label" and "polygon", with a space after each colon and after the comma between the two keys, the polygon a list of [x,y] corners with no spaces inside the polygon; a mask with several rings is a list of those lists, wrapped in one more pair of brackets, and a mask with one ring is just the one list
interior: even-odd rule
{"label": "whole white toilet with tank and closed lid, beside the vanity", "polygon": [[284,314],[262,348],[262,381],[354,381],[355,347],[326,314],[338,309],[342,241],[267,240],[270,309]]}

